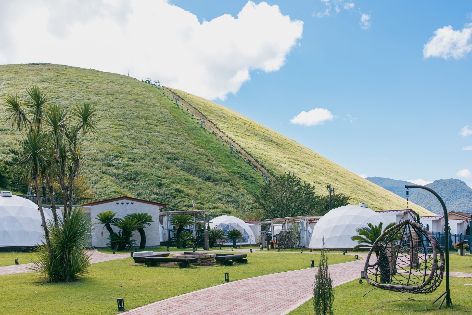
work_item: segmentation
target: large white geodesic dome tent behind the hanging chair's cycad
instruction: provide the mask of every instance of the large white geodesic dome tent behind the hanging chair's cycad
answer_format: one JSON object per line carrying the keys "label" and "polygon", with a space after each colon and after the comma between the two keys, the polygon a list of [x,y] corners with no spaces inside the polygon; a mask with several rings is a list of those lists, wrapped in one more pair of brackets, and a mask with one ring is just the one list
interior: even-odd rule
{"label": "large white geodesic dome tent behind the hanging chair's cycad", "polygon": [[368,223],[379,225],[383,217],[367,207],[345,205],[323,215],[313,228],[309,248],[353,248],[358,243],[351,240],[357,235],[356,229],[367,227]]}

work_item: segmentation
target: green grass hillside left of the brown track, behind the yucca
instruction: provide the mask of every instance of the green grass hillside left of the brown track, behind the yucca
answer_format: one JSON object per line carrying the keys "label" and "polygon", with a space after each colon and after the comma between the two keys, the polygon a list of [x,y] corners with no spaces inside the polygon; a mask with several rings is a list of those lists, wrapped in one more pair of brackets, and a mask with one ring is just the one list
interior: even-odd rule
{"label": "green grass hillside left of the brown track, behind the yucca", "polygon": [[[99,108],[97,134],[84,148],[90,195],[122,195],[250,217],[252,195],[262,178],[229,154],[227,145],[177,108],[161,89],[132,77],[52,64],[0,66],[0,100],[46,89],[70,107],[88,101]],[[11,158],[11,136],[19,136],[0,106],[0,159]]]}

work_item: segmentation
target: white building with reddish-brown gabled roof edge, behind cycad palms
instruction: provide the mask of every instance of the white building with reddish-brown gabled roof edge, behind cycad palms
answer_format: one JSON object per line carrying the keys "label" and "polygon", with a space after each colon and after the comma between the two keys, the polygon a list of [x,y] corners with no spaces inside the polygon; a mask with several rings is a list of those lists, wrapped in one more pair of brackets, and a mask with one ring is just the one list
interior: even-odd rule
{"label": "white building with reddish-brown gabled roof edge, behind cycad palms", "polygon": [[[105,229],[103,230],[103,235],[101,235],[103,224],[98,224],[99,221],[96,219],[96,217],[98,213],[111,210],[117,213],[115,218],[124,218],[127,214],[141,212],[151,215],[154,222],[151,223],[150,226],[146,226],[144,228],[144,232],[146,233],[146,247],[159,247],[160,236],[163,234],[162,226],[159,222],[159,211],[161,208],[166,206],[167,204],[161,204],[158,202],[137,199],[128,196],[82,204],[82,209],[85,212],[90,213],[91,222],[96,223],[96,225],[94,225],[95,228],[92,230],[92,246],[107,247],[108,237],[110,234]],[[117,227],[112,226],[112,229],[118,232]],[[134,239],[136,244],[139,245],[141,237],[137,231],[133,232],[132,239]]]}

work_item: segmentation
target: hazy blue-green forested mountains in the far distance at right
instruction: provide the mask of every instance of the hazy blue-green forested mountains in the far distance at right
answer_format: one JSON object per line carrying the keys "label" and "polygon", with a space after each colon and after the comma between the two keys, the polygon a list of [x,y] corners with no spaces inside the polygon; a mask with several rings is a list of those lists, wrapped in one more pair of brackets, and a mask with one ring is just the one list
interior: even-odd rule
{"label": "hazy blue-green forested mountains in the far distance at right", "polygon": [[[395,180],[382,177],[366,178],[398,196],[405,198],[405,185],[413,184],[405,180]],[[472,188],[460,179],[438,179],[427,184],[443,198],[447,211],[472,213]],[[438,199],[423,189],[410,189],[410,201],[421,205],[431,212],[442,214],[442,207]]]}

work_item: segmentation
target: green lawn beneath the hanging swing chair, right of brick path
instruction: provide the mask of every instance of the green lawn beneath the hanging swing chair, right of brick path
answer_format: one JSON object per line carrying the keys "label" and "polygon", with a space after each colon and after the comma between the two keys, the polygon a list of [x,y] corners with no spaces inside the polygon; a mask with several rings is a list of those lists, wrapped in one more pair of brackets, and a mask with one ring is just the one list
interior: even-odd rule
{"label": "green lawn beneath the hanging swing chair, right of brick path", "polygon": [[[359,280],[354,280],[335,288],[334,314],[471,314],[472,286],[465,285],[469,283],[472,283],[471,278],[451,277],[451,299],[454,303],[454,306],[452,308],[441,308],[441,310],[429,312],[399,312],[382,310],[381,308],[375,306],[375,304],[382,301],[413,298],[416,300],[426,301],[396,302],[389,304],[388,306],[385,304],[384,305],[388,308],[396,309],[424,309],[425,306],[428,308],[437,308],[439,306],[437,305],[438,302],[436,302],[434,305],[431,305],[431,303],[444,292],[445,281],[441,283],[439,289],[429,295],[404,294],[390,292],[382,289],[375,289],[371,293],[366,295],[364,298],[362,298],[362,295],[364,295],[373,287],[368,285],[365,281],[363,284],[359,284]],[[305,304],[288,314],[314,314],[312,300],[306,302]]]}

